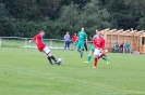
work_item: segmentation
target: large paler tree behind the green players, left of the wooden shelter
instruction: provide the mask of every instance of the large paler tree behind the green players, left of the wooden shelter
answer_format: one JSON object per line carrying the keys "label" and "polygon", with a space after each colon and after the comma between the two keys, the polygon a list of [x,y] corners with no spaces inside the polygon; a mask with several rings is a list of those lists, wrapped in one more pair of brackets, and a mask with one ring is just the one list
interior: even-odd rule
{"label": "large paler tree behind the green players, left of the wooden shelter", "polygon": [[80,15],[80,25],[86,28],[88,35],[94,35],[96,29],[113,28],[114,22],[106,9],[101,9],[98,0],[87,3]]}

